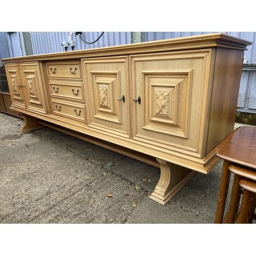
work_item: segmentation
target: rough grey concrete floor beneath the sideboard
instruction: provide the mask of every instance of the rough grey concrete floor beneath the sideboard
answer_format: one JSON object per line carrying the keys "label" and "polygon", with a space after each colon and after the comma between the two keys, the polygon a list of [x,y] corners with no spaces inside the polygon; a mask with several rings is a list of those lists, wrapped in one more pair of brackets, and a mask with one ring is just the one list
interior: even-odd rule
{"label": "rough grey concrete floor beneath the sideboard", "polygon": [[163,206],[148,198],[159,168],[48,127],[19,134],[22,124],[0,113],[0,223],[214,223],[222,161]]}

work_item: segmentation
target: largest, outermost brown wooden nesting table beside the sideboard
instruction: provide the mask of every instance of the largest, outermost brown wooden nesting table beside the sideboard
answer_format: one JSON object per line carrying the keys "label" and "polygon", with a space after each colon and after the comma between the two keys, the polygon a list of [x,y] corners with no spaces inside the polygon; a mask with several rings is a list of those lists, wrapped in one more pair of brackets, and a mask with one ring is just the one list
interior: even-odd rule
{"label": "largest, outermost brown wooden nesting table beside the sideboard", "polygon": [[[256,169],[256,127],[241,126],[230,133],[218,146],[216,155],[224,160],[215,223],[223,223],[231,163]],[[236,213],[235,213],[236,215]]]}

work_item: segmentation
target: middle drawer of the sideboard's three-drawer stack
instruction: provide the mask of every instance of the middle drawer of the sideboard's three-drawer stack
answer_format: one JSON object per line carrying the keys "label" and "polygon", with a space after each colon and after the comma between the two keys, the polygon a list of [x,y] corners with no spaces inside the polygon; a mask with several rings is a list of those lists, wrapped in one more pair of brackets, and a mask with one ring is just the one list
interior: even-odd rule
{"label": "middle drawer of the sideboard's three-drawer stack", "polygon": [[83,83],[49,80],[51,97],[84,102]]}

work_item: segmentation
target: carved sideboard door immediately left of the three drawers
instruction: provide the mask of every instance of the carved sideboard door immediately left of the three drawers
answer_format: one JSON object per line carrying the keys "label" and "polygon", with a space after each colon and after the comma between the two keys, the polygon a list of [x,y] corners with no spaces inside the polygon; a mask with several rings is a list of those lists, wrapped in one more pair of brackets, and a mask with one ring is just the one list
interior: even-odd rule
{"label": "carved sideboard door immediately left of the three drawers", "polygon": [[22,86],[25,91],[27,109],[46,113],[45,94],[37,62],[19,63]]}

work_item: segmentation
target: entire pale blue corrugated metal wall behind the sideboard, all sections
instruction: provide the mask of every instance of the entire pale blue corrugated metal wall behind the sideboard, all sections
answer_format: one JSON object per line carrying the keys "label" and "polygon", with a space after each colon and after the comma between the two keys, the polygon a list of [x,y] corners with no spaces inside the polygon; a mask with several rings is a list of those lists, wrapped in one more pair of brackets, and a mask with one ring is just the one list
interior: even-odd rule
{"label": "entire pale blue corrugated metal wall behind the sideboard, all sections", "polygon": [[[11,36],[16,36],[15,33],[18,34],[18,32],[14,32]],[[256,63],[256,32],[145,32],[145,41],[201,35],[208,33],[224,33],[234,37],[239,37],[241,39],[252,41],[252,46],[247,47],[248,51],[245,51],[244,56],[248,57],[248,63]],[[100,34],[101,32],[82,32],[81,37],[86,41],[92,42],[96,40],[100,36]],[[69,32],[30,32],[30,37],[32,51],[34,55],[131,44],[131,32],[104,32],[102,37],[97,42],[95,42],[95,44],[92,45],[84,43],[82,40],[80,40],[79,36],[75,36],[75,32],[72,32],[71,40],[75,41],[75,47],[68,47],[67,49],[61,46],[61,42],[68,41]],[[12,45],[12,48],[15,48],[15,46]],[[20,42],[17,44],[17,48],[19,48],[20,50]],[[14,50],[15,49],[12,49],[12,51]],[[255,70],[242,72],[238,107],[256,110]]]}

